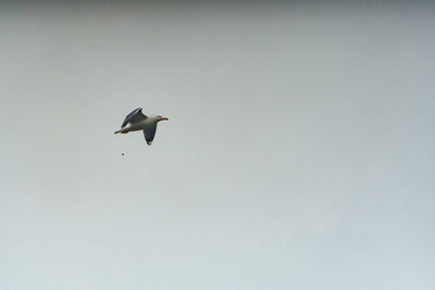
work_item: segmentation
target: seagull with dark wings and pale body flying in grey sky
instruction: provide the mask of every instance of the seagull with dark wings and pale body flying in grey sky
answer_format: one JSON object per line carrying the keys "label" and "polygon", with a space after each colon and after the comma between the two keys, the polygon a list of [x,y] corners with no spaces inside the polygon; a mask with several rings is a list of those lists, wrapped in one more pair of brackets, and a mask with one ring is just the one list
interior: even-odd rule
{"label": "seagull with dark wings and pale body flying in grey sky", "polygon": [[121,129],[115,131],[115,134],[127,134],[129,131],[142,130],[145,140],[147,141],[147,144],[150,146],[154,139],[157,123],[167,119],[167,117],[162,117],[160,115],[146,116],[142,113],[142,109],[138,108],[125,117],[124,123],[121,125]]}

